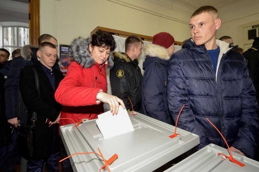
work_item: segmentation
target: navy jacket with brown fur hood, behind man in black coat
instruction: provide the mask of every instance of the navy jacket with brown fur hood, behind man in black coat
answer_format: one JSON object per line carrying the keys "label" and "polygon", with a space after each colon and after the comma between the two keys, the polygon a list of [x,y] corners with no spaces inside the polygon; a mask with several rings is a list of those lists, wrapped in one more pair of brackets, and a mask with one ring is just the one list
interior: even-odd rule
{"label": "navy jacket with brown fur hood, behind man in black coat", "polygon": [[[12,60],[7,79],[5,81],[5,101],[6,101],[6,117],[12,119],[17,117],[18,113],[18,83],[20,71],[23,67],[38,62],[38,48],[33,45],[26,45],[21,49],[21,56]],[[58,65],[59,59],[56,60],[55,68],[60,69]],[[23,106],[24,107],[24,106]],[[25,114],[26,108],[23,108],[22,115]]]}

